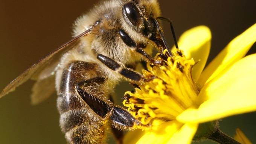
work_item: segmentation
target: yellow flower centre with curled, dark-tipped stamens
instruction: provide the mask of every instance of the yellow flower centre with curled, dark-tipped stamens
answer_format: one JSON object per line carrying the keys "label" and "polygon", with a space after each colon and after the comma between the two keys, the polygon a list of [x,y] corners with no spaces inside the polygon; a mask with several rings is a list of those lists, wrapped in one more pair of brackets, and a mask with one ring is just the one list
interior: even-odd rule
{"label": "yellow flower centre with curled, dark-tipped stamens", "polygon": [[192,79],[193,59],[186,59],[181,50],[176,49],[172,56],[165,51],[155,56],[164,65],[148,66],[143,70],[145,78],[154,77],[148,82],[137,84],[135,92],[126,92],[123,105],[144,125],[154,120],[171,121],[187,108],[197,107],[199,93]]}

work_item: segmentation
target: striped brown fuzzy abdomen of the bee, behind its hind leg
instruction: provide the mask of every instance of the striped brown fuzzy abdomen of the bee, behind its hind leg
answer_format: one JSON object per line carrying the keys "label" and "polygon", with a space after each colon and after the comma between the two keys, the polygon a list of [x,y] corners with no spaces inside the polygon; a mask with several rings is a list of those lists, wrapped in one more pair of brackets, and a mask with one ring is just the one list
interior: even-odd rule
{"label": "striped brown fuzzy abdomen of the bee, behind its hind leg", "polygon": [[[97,76],[96,67],[93,63],[75,61],[62,72],[57,99],[59,122],[67,141],[72,144],[101,144],[104,141],[105,124],[99,118],[94,118],[88,105],[75,90],[80,82]],[[93,71],[94,74],[90,74]],[[92,92],[91,89],[96,87],[89,83],[86,89]]]}

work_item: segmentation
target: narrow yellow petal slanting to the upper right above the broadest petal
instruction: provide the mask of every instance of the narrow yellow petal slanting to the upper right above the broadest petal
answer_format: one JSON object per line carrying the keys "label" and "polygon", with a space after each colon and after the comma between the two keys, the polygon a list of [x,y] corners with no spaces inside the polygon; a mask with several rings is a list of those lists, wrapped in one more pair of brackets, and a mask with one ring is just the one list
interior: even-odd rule
{"label": "narrow yellow petal slanting to the upper right above the broadest petal", "polygon": [[241,35],[233,39],[223,49],[215,59],[206,67],[201,74],[198,84],[203,86],[204,83],[209,82],[219,73],[225,71],[228,67],[236,61],[245,56],[248,50],[256,41],[256,24],[251,26]]}

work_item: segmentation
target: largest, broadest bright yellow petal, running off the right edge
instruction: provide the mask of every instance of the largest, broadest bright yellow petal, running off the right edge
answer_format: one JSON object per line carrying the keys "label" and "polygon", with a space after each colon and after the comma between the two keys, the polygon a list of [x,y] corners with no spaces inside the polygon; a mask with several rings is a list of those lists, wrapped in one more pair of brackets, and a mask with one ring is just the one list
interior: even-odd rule
{"label": "largest, broadest bright yellow petal, running off the right edge", "polygon": [[256,54],[236,62],[201,89],[198,109],[178,115],[183,123],[202,123],[235,114],[256,111]]}

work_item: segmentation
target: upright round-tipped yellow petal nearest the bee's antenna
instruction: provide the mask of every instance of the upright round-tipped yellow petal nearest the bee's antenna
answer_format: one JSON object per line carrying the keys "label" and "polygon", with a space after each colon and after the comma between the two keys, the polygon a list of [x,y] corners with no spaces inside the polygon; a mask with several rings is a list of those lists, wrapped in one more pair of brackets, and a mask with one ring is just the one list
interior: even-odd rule
{"label": "upright round-tipped yellow petal nearest the bee's antenna", "polygon": [[198,62],[192,71],[195,81],[203,71],[209,56],[211,38],[212,35],[208,27],[197,26],[184,32],[178,40],[179,49],[183,50],[186,58],[193,58],[195,62]]}

